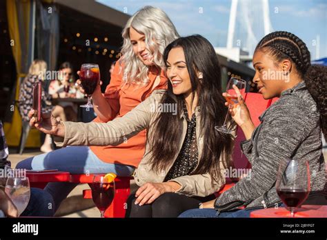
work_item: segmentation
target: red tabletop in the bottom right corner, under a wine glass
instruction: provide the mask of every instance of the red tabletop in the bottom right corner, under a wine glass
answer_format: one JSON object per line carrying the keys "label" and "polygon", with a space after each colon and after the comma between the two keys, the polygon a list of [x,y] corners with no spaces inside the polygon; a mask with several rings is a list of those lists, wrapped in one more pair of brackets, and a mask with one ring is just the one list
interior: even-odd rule
{"label": "red tabletop in the bottom right corner, under a wine glass", "polygon": [[[266,208],[255,210],[250,213],[250,217],[290,217],[290,211],[286,208]],[[326,205],[303,205],[295,211],[295,217],[327,217]]]}

